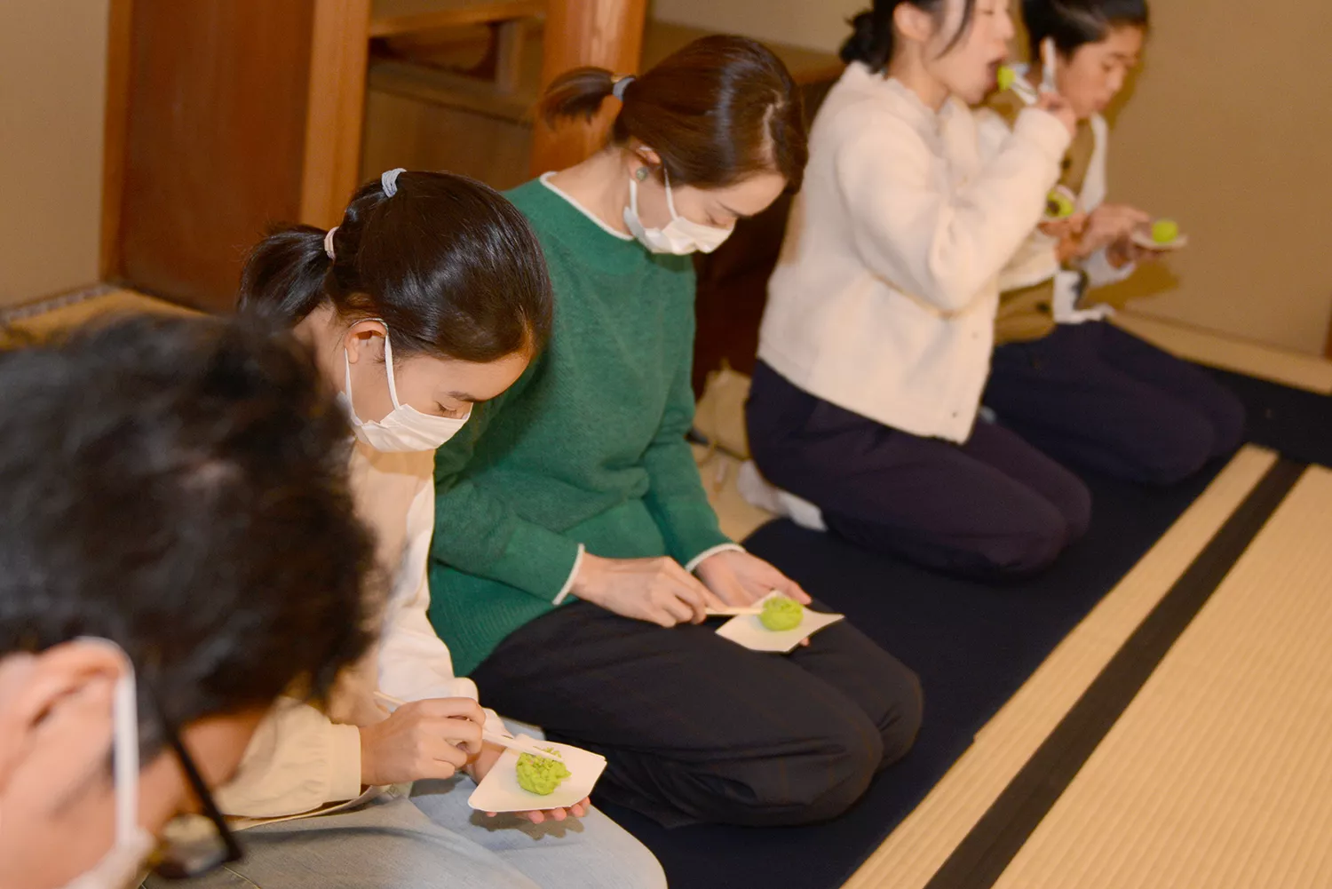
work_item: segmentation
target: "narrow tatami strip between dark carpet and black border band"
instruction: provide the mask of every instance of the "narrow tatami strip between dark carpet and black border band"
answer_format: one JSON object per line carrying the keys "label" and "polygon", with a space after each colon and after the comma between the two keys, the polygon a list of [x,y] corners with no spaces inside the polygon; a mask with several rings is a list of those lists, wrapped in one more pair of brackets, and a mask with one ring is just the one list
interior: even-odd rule
{"label": "narrow tatami strip between dark carpet and black border band", "polygon": [[1240,450],[986,725],[971,749],[852,876],[846,889],[924,886],[1273,462],[1275,454],[1269,452],[1252,446]]}

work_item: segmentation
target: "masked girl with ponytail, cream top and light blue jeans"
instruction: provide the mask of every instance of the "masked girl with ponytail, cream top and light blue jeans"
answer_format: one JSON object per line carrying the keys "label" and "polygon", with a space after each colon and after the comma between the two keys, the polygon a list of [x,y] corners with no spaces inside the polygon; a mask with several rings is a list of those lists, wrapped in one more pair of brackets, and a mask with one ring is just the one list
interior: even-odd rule
{"label": "masked girl with ponytail, cream top and light blue jeans", "polygon": [[[334,229],[264,239],[240,303],[292,328],[338,393],[356,433],[353,496],[388,589],[372,609],[377,645],[328,706],[280,704],[217,794],[249,828],[245,861],[186,885],[665,886],[651,853],[587,801],[473,822],[472,784],[501,753],[482,730],[507,730],[426,617],[434,449],[550,335],[550,280],[523,216],[470,179],[390,171]],[[537,826],[570,816],[579,830]]]}

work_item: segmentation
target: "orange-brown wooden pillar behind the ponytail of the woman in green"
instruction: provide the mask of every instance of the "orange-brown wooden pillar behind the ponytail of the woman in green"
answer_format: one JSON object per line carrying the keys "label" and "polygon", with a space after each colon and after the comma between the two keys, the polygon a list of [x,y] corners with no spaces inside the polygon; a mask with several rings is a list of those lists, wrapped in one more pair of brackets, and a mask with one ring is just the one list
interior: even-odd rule
{"label": "orange-brown wooden pillar behind the ponytail of the woman in green", "polygon": [[[557,76],[581,65],[634,73],[642,60],[647,0],[550,0],[546,12],[542,89]],[[534,121],[531,172],[571,167],[605,141],[615,111],[607,108],[591,124],[570,121],[551,131]],[[618,108],[618,105],[617,105]]]}

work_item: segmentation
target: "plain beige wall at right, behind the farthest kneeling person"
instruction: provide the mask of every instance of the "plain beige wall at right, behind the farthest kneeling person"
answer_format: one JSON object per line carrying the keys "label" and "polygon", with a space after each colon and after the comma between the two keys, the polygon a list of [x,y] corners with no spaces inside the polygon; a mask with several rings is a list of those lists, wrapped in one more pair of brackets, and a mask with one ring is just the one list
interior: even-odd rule
{"label": "plain beige wall at right, behind the farthest kneeling person", "polygon": [[1179,219],[1188,249],[1135,309],[1321,353],[1332,316],[1332,4],[1158,1],[1111,143],[1111,197]]}

